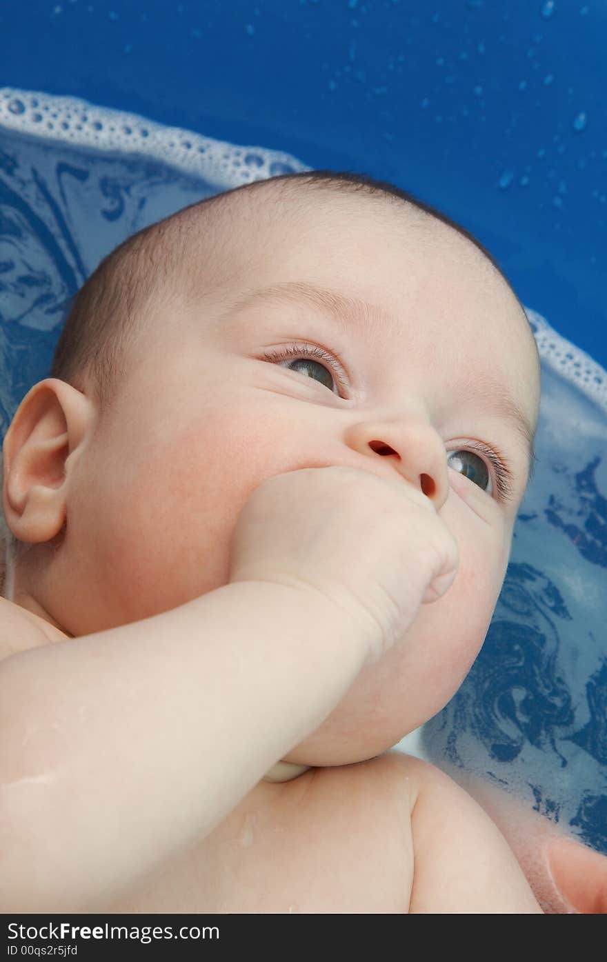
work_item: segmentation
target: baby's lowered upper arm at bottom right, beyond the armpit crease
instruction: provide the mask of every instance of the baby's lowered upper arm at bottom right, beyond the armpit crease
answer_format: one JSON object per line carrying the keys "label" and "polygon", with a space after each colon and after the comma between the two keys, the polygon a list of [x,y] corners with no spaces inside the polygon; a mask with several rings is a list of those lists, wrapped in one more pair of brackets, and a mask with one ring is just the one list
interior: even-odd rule
{"label": "baby's lowered upper arm at bottom right, beyond the armpit crease", "polygon": [[540,913],[503,835],[464,789],[408,759],[413,784],[410,913]]}

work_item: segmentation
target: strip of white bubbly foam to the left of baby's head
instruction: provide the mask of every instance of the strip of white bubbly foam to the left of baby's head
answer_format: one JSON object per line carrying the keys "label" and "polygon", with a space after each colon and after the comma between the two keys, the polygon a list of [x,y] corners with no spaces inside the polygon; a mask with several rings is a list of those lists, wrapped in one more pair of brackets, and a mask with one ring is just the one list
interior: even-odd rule
{"label": "strip of white bubbly foam to the left of baby's head", "polygon": [[0,125],[74,146],[151,157],[224,190],[310,169],[281,151],[238,146],[179,127],[165,127],[139,114],[32,90],[0,88]]}

